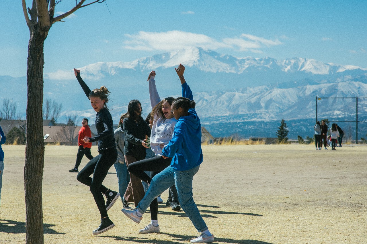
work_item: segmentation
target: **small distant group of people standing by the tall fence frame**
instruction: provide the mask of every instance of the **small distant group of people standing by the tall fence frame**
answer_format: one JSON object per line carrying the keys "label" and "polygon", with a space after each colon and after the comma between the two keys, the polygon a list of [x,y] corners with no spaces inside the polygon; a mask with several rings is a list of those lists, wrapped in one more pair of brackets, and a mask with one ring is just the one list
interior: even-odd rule
{"label": "small distant group of people standing by the tall fence frame", "polygon": [[[317,121],[316,125],[314,126],[314,130],[316,150],[321,150],[323,143],[324,149],[328,150],[328,141],[330,141],[331,150],[336,150],[335,147],[342,146],[344,132],[341,127],[338,126],[338,124],[333,123],[330,130],[328,130],[328,127],[324,120],[321,121],[321,124],[319,121]],[[329,136],[327,135],[328,132],[330,133]],[[338,143],[339,145],[337,145]]]}

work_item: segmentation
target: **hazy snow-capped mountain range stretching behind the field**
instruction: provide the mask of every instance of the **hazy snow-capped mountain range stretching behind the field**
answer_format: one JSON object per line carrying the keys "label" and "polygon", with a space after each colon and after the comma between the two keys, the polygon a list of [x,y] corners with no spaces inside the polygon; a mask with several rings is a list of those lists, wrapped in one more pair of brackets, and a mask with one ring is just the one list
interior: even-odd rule
{"label": "hazy snow-capped mountain range stretching behind the field", "polygon": [[[215,136],[228,136],[233,131],[251,135],[251,131],[231,129],[239,122],[274,122],[283,118],[286,121],[314,121],[316,96],[364,97],[367,94],[366,68],[306,58],[236,58],[202,48],[163,53],[132,62],[100,62],[79,69],[91,89],[105,85],[111,91],[111,113],[117,121],[120,114],[126,112],[131,99],[141,100],[148,114],[151,108],[146,78],[151,70],[157,73],[156,84],[161,98],[180,96],[181,86],[174,70],[179,63],[186,67],[185,78],[194,92],[202,124],[214,131],[217,131],[215,125],[229,126],[227,132],[212,132]],[[55,71],[44,77],[45,99],[62,103],[63,114],[87,116],[93,121],[95,112],[89,109],[72,69]],[[25,111],[26,78],[3,76],[0,82],[9,84],[0,99],[19,97],[18,111]],[[318,110],[323,115],[319,118],[355,115],[352,100],[348,103],[335,99],[318,101]],[[366,112],[364,105],[364,100],[360,100],[362,113]],[[268,136],[274,137],[275,130],[276,127]],[[252,136],[257,136],[255,133]],[[309,135],[312,136],[312,132]]]}

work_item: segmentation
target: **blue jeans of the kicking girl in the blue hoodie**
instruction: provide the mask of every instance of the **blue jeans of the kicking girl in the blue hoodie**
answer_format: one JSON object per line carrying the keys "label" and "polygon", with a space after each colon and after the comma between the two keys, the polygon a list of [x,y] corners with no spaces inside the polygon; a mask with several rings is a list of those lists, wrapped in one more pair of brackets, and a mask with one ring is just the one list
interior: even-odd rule
{"label": "blue jeans of the kicking girl in the blue hoodie", "polygon": [[142,214],[145,213],[150,203],[157,196],[175,184],[178,200],[182,210],[185,211],[198,232],[207,230],[208,227],[204,222],[204,219],[201,217],[199,209],[197,209],[194,199],[192,198],[192,179],[197,171],[199,171],[199,166],[185,171],[177,171],[171,166],[168,166],[153,177],[148,191],[136,208]]}

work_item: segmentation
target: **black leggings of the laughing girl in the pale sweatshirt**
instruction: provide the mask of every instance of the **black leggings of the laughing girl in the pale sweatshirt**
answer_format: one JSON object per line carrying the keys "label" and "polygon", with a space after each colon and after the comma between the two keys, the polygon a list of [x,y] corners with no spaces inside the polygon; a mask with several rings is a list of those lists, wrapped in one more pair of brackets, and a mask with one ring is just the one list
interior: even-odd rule
{"label": "black leggings of the laughing girl in the pale sweatshirt", "polygon": [[[160,171],[166,169],[171,164],[172,158],[164,159],[162,156],[155,156],[153,158],[143,159],[134,163],[129,164],[127,169],[129,172],[140,180],[147,182],[150,184],[150,181],[154,177],[154,175],[158,174]],[[144,172],[152,171],[150,177]],[[158,220],[158,202],[157,199],[154,199],[152,203],[149,205],[150,208],[150,217],[153,220]]]}

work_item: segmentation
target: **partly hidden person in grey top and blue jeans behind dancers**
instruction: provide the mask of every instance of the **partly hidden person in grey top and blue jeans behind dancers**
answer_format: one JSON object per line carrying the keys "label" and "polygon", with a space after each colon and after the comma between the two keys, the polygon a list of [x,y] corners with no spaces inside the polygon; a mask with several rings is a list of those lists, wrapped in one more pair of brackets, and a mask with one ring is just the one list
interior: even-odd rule
{"label": "partly hidden person in grey top and blue jeans behind dancers", "polygon": [[121,196],[122,204],[124,208],[129,209],[130,208],[129,204],[124,199],[124,193],[126,192],[127,185],[130,182],[130,174],[127,171],[127,166],[124,157],[125,134],[122,129],[122,122],[124,118],[125,114],[121,115],[119,126],[117,126],[117,129],[113,132],[113,135],[115,136],[116,150],[117,150],[117,160],[113,165],[115,166],[117,179],[119,180],[119,193]]}

